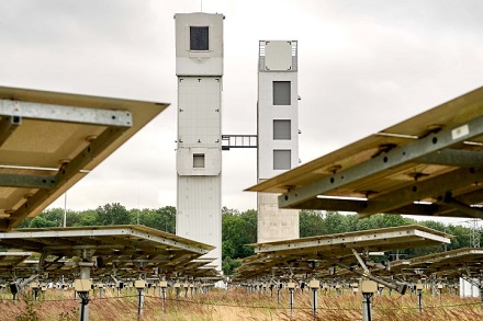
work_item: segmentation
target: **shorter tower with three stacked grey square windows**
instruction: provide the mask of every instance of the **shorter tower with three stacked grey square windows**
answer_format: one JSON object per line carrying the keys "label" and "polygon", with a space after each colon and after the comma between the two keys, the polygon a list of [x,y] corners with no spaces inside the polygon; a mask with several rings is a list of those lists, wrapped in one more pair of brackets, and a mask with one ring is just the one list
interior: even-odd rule
{"label": "shorter tower with three stacked grey square windows", "polygon": [[[299,164],[297,42],[260,41],[258,57],[258,182]],[[280,209],[258,193],[258,242],[299,238],[299,210]]]}

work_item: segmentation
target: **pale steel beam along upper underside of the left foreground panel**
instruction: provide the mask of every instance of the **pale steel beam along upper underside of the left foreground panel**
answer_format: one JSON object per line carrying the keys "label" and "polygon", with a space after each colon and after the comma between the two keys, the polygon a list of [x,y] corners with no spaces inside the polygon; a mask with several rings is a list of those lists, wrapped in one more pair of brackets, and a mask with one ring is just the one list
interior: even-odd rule
{"label": "pale steel beam along upper underside of the left foreground panel", "polygon": [[0,100],[0,116],[54,121],[64,123],[92,124],[102,126],[131,127],[133,116],[130,111],[72,107],[33,102]]}

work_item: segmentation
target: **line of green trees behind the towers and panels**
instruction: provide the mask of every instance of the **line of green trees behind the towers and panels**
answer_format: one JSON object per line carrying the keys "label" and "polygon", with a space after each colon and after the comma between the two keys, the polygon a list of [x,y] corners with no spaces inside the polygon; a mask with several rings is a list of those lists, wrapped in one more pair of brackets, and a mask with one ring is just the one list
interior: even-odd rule
{"label": "line of green trees behind the towers and panels", "polygon": [[[472,231],[461,225],[445,225],[442,222],[426,220],[416,221],[401,215],[373,215],[359,219],[356,214],[340,214],[337,211],[301,210],[300,237],[314,237],[333,233],[344,233],[368,229],[380,229],[418,223],[441,232],[454,236],[451,244],[434,245],[426,248],[405,249],[386,252],[381,261],[395,259],[409,259],[427,255],[441,251],[449,251],[472,245]],[[175,233],[176,207],[165,206],[157,209],[126,209],[119,203],[99,206],[96,209],[81,211],[67,210],[67,227],[112,226],[112,225],[143,225],[157,230]],[[64,209],[52,208],[41,215],[24,219],[18,228],[48,228],[64,226]],[[476,236],[478,237],[478,236]],[[248,244],[257,242],[257,210],[222,208],[222,268],[225,275],[231,275],[244,259],[254,254],[254,249]]]}

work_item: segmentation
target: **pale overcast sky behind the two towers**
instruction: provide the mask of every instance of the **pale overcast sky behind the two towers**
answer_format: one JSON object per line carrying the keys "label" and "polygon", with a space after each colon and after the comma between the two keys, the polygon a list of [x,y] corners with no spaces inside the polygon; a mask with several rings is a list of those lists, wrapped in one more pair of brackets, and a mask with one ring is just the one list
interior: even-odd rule
{"label": "pale overcast sky behind the two towers", "polygon": [[[68,208],[176,206],[173,14],[201,9],[226,16],[223,134],[256,134],[258,41],[299,41],[302,162],[483,83],[480,0],[0,0],[0,85],[171,103]],[[223,152],[223,205],[256,208],[256,168]]]}

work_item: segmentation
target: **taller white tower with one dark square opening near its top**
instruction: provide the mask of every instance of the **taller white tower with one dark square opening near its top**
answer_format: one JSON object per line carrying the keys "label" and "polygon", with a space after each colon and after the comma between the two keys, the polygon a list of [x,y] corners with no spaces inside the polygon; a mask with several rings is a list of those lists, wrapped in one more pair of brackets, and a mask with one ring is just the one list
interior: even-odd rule
{"label": "taller white tower with one dark square opening near its top", "polygon": [[177,236],[216,247],[222,267],[223,14],[178,13]]}

